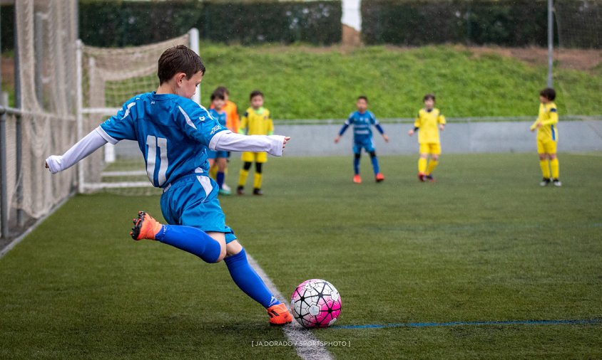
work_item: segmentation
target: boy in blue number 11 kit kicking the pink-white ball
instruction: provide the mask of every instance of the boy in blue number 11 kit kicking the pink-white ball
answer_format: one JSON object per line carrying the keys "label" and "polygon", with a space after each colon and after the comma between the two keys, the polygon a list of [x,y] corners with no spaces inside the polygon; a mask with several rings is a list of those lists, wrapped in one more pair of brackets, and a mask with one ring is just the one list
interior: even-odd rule
{"label": "boy in blue number 11 kit kicking the pink-white ball", "polygon": [[185,46],[168,48],[158,61],[159,87],[128,100],[117,115],[93,129],[63,155],[46,159],[55,174],[107,142],[138,142],[148,178],[163,189],[160,205],[169,225],[140,211],[131,235],[151,239],[197,255],[207,263],[224,260],[243,292],[267,309],[270,324],[286,324],[292,316],[253,270],[218,201],[218,186],[208,176],[207,149],[268,152],[282,155],[289,137],[235,134],[220,125],[193,100],[205,65]]}

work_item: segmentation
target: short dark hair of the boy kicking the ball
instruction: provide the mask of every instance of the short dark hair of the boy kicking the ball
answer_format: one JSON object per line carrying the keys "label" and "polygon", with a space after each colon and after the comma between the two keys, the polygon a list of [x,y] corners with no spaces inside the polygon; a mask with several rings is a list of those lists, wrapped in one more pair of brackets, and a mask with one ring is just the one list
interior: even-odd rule
{"label": "short dark hair of the boy kicking the ball", "polygon": [[197,53],[183,45],[173,46],[163,51],[159,58],[157,70],[159,85],[170,80],[177,73],[185,73],[186,79],[190,79],[199,71],[205,75],[205,65]]}

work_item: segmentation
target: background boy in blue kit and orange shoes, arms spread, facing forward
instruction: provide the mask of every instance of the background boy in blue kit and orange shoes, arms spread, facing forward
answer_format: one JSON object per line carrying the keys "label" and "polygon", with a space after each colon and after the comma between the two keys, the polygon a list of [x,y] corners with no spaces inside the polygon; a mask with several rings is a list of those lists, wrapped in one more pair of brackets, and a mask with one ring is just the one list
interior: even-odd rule
{"label": "background boy in blue kit and orange shoes, arms spread, facing forward", "polygon": [[370,154],[372,169],[374,169],[374,178],[377,182],[383,181],[384,176],[380,173],[376,149],[374,149],[374,142],[372,142],[372,125],[377,128],[385,142],[389,142],[389,137],[387,137],[387,134],[384,134],[384,130],[376,120],[376,117],[374,117],[374,114],[368,111],[368,97],[364,95],[357,97],[355,105],[357,106],[357,111],[349,115],[339,135],[335,138],[335,143],[340,141],[347,127],[353,125],[353,171],[355,174],[353,182],[356,184],[362,182],[362,178],[359,176],[359,159],[362,157],[362,148]]}

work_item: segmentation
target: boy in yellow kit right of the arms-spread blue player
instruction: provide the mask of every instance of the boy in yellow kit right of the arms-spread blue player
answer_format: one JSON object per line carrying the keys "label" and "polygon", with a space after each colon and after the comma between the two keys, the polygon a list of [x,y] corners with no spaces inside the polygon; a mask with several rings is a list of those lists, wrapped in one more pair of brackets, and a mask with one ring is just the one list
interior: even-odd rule
{"label": "boy in yellow kit right of the arms-spread blue player", "polygon": [[[433,171],[439,164],[441,154],[441,142],[439,141],[439,130],[445,128],[445,117],[439,109],[435,108],[435,95],[427,94],[422,99],[424,109],[420,109],[418,117],[414,121],[414,129],[407,134],[412,136],[418,133],[418,144],[420,145],[420,158],[418,159],[418,179],[420,181],[434,181]],[[428,161],[429,155],[431,160]],[[428,162],[428,167],[427,167]]]}

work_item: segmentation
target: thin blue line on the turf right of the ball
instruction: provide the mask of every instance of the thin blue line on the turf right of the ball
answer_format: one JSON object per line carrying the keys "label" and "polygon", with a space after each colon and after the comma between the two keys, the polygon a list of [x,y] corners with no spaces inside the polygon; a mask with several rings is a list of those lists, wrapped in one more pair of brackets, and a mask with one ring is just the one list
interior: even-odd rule
{"label": "thin blue line on the turf right of the ball", "polygon": [[507,320],[489,322],[400,322],[393,324],[334,325],[333,329],[383,329],[386,327],[466,327],[500,325],[600,325],[602,319]]}

